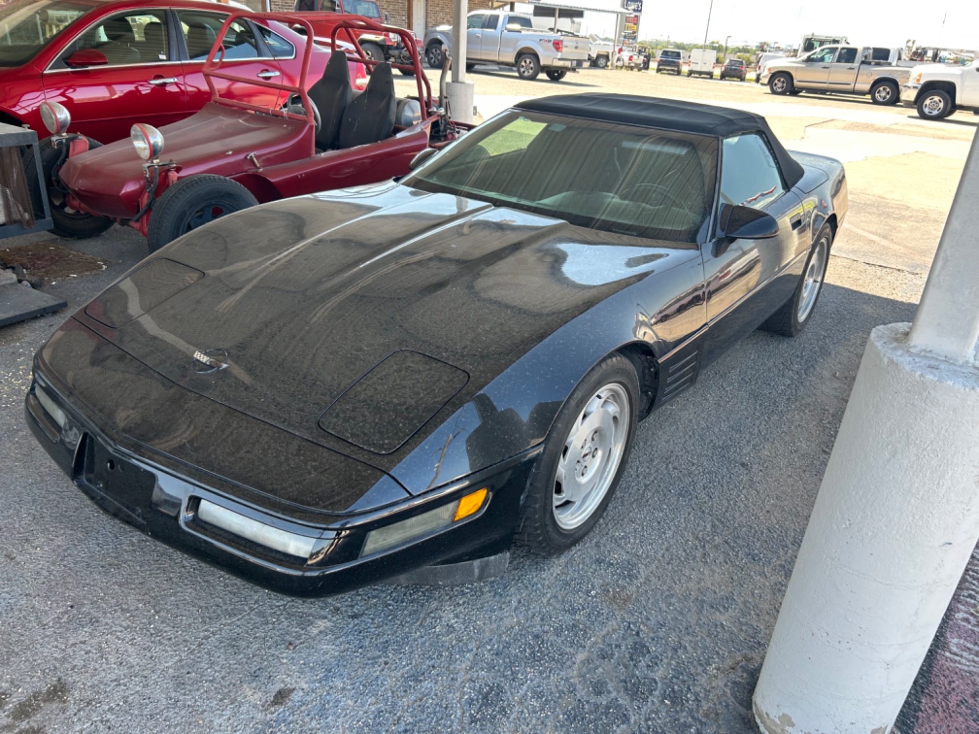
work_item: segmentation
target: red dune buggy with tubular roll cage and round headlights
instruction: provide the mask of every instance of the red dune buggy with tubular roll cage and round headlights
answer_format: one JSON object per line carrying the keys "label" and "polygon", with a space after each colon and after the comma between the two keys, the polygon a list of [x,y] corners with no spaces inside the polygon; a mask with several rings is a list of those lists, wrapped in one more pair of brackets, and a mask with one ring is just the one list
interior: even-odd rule
{"label": "red dune buggy with tubular roll cage and round headlights", "polygon": [[[304,26],[306,46],[297,86],[220,70],[221,41],[240,18]],[[364,27],[399,34],[412,64],[369,59],[351,32]],[[355,51],[350,59],[370,69],[363,92],[351,89],[349,57],[339,50],[346,45],[338,41],[342,31]],[[323,77],[307,92],[314,43],[309,23],[287,15],[240,11],[228,16],[210,50],[204,74],[211,101],[195,115],[159,130],[135,124],[131,141],[99,146],[67,132],[67,110],[42,103],[45,124],[55,133],[42,146],[55,232],[90,237],[118,222],[146,235],[150,252],[156,252],[212,219],[258,203],[407,173],[421,151],[430,145],[441,147],[459,133],[433,105],[431,86],[411,41],[408,31],[381,23],[338,23],[331,38],[335,50]],[[396,97],[392,66],[414,72],[417,99]],[[282,107],[221,98],[215,78],[280,90]],[[142,165],[133,147],[145,161]]]}

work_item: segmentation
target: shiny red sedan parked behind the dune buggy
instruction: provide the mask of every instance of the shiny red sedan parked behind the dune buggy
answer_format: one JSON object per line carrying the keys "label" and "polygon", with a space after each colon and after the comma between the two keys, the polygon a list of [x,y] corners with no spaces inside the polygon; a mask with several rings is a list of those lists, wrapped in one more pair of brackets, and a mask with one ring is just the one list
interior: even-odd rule
{"label": "shiny red sedan parked behind the dune buggy", "polygon": [[[202,69],[231,10],[206,0],[14,0],[0,13],[0,122],[44,137],[39,105],[59,102],[73,130],[110,143],[127,138],[134,122],[162,126],[193,115],[210,102]],[[224,69],[298,84],[301,35],[247,19],[231,30]],[[329,58],[326,50],[312,55],[307,83]],[[351,80],[365,81],[363,67],[351,67]],[[225,98],[271,108],[286,101],[277,89],[215,82]]]}

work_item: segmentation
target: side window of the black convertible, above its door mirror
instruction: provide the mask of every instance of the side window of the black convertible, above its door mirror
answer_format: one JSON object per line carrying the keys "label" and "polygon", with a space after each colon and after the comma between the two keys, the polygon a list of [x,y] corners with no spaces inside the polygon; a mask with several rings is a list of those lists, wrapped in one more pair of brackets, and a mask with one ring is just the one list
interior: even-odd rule
{"label": "side window of the black convertible, above its door mirror", "polygon": [[785,193],[769,144],[757,133],[725,138],[721,160],[723,204],[762,209]]}

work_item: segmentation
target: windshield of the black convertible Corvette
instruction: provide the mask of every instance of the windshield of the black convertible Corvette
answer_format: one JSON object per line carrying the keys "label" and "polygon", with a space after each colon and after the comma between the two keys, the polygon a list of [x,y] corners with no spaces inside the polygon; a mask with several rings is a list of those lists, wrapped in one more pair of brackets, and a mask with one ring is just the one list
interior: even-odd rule
{"label": "windshield of the black convertible Corvette", "polygon": [[710,215],[717,151],[717,139],[704,135],[512,110],[402,183],[591,229],[696,242]]}

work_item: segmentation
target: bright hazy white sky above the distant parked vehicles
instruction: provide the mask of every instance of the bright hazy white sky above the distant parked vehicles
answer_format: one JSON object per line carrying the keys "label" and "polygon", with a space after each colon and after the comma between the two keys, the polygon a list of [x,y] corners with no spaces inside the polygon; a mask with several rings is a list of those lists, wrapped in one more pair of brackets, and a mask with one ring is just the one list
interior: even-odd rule
{"label": "bright hazy white sky above the distant parked vehicles", "polygon": [[[553,1],[553,0],[551,0]],[[616,7],[616,0],[568,0],[568,5]],[[702,41],[710,0],[645,0],[639,38]],[[943,28],[942,21],[945,19]],[[586,32],[611,35],[613,16],[586,13]],[[923,45],[979,48],[977,0],[714,0],[709,41],[730,35],[732,44],[779,41],[798,45],[806,33],[841,33],[854,43],[903,46],[909,38]]]}

